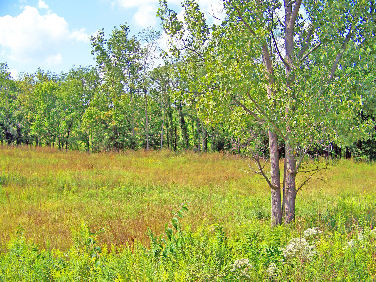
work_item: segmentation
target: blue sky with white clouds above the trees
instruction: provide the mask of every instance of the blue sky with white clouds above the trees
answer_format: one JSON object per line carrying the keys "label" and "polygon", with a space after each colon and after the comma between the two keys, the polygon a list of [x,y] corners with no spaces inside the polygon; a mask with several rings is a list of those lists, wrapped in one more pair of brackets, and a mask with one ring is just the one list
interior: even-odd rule
{"label": "blue sky with white clouds above the trees", "polygon": [[[180,0],[167,0],[183,17]],[[218,24],[218,0],[198,1],[208,23]],[[72,65],[95,65],[89,36],[100,28],[105,34],[128,23],[130,34],[144,28],[161,30],[156,17],[158,0],[0,0],[0,63],[6,62],[12,77],[38,68],[68,72]],[[221,16],[220,16],[221,17]],[[165,40],[160,40],[166,49]]]}

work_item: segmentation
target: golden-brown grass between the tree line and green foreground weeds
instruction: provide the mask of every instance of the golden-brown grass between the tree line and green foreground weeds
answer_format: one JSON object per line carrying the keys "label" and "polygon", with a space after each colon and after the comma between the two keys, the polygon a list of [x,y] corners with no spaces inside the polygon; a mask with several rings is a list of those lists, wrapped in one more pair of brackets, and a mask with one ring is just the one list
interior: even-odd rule
{"label": "golden-brown grass between the tree line and green foreground weeds", "polygon": [[[21,225],[42,248],[65,250],[82,222],[92,230],[108,227],[99,238],[107,245],[146,244],[147,229],[160,233],[183,200],[191,202],[184,224],[192,230],[218,222],[229,230],[243,226],[256,208],[268,210],[270,196],[259,175],[241,170],[248,164],[222,153],[0,147],[0,249]],[[318,198],[374,193],[374,165],[341,160],[328,175],[298,195],[298,217]]]}

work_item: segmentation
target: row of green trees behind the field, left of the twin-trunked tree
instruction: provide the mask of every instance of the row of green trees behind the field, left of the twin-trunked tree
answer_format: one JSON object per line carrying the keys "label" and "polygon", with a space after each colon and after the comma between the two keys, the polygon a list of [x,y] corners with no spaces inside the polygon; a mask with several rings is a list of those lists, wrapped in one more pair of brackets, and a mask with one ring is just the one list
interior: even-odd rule
{"label": "row of green trees behind the field, left of the twin-trunked tree", "polygon": [[[54,74],[38,69],[14,80],[0,64],[2,144],[89,152],[123,149],[231,150],[231,132],[197,118],[196,105],[171,97],[173,66],[155,66],[160,33],[90,38],[96,66]],[[142,46],[142,47],[141,47]],[[225,138],[222,138],[222,137]]]}

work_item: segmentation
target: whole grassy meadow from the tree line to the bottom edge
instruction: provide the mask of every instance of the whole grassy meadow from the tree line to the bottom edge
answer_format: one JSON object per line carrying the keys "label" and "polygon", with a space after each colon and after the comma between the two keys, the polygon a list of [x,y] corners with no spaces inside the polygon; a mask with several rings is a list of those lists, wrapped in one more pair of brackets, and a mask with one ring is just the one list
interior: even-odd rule
{"label": "whole grassy meadow from the tree line to the bottom edge", "polygon": [[[268,244],[271,244],[269,246],[285,246],[291,238],[303,236],[305,229],[318,226],[322,232],[319,242],[324,242],[326,238],[326,245],[324,247],[316,243],[317,256],[322,258],[329,268],[323,267],[321,269],[323,274],[319,275],[318,260],[316,269],[315,262],[311,259],[300,260],[299,264],[295,264],[295,270],[290,264],[283,263],[284,269],[291,268],[290,272],[284,270],[284,275],[290,273],[288,279],[306,281],[305,279],[309,277],[311,281],[346,281],[346,277],[349,277],[353,279],[349,281],[375,281],[376,270],[373,258],[376,258],[376,252],[372,245],[375,242],[371,235],[371,249],[366,248],[367,252],[365,252],[364,248],[363,251],[359,248],[361,255],[356,253],[357,255],[353,256],[355,264],[358,260],[363,263],[361,270],[353,269],[358,273],[355,275],[356,279],[355,276],[349,276],[352,264],[349,266],[342,264],[341,267],[350,268],[346,268],[346,271],[349,271],[347,275],[342,273],[341,276],[337,270],[334,272],[331,270],[331,266],[333,269],[340,267],[335,265],[337,260],[335,255],[331,254],[330,258],[327,258],[319,252],[322,249],[322,254],[326,254],[328,250],[330,253],[331,249],[338,248],[339,244],[342,244],[339,250],[345,255],[349,253],[351,257],[352,253],[345,250],[346,242],[353,236],[355,239],[358,238],[357,234],[366,230],[370,224],[374,225],[376,221],[374,189],[376,166],[374,164],[355,163],[352,160],[330,161],[329,170],[326,172],[327,180],[325,182],[312,180],[304,190],[299,192],[296,222],[274,229],[270,228],[270,191],[264,179],[259,175],[249,174],[242,170],[248,165],[252,165],[252,162],[246,158],[221,153],[176,154],[172,151],[125,151],[119,154],[86,154],[75,151],[60,152],[54,148],[0,147],[0,249],[3,253],[0,257],[3,263],[0,266],[0,281],[9,281],[11,277],[7,276],[9,275],[7,271],[11,270],[6,270],[4,262],[7,260],[7,264],[12,262],[11,254],[15,252],[15,246],[17,250],[24,250],[20,251],[20,254],[16,252],[21,257],[27,254],[30,257],[31,253],[35,253],[35,259],[29,262],[30,265],[41,260],[40,256],[37,258],[36,253],[42,254],[43,258],[57,260],[59,256],[63,257],[63,252],[71,254],[73,246],[76,247],[77,254],[81,254],[80,252],[85,248],[89,252],[90,244],[92,246],[97,244],[102,247],[102,251],[106,250],[99,253],[89,252],[93,260],[89,258],[86,261],[88,265],[86,274],[73,275],[73,278],[69,276],[71,278],[68,279],[68,276],[64,276],[68,275],[68,270],[64,272],[65,274],[59,270],[59,275],[63,278],[58,280],[55,279],[58,275],[49,270],[49,278],[40,281],[52,281],[52,277],[56,281],[85,281],[85,279],[95,281],[92,275],[99,273],[99,270],[95,271],[96,267],[100,268],[95,258],[106,256],[108,256],[107,267],[111,264],[109,261],[119,267],[119,260],[124,265],[135,266],[134,262],[132,264],[128,261],[133,258],[137,260],[136,264],[139,266],[141,257],[145,261],[150,258],[147,250],[158,245],[155,244],[156,237],[147,233],[148,229],[157,237],[164,233],[165,223],[171,220],[171,212],[177,211],[180,203],[184,201],[190,202],[187,204],[190,211],[185,212],[183,219],[180,219],[177,233],[180,235],[176,236],[186,238],[186,242],[191,242],[192,238],[196,238],[196,241],[193,240],[196,243],[206,240],[205,248],[200,245],[203,253],[205,250],[210,253],[211,248],[224,248],[225,250],[221,251],[223,256],[219,256],[222,264],[216,264],[222,270],[225,265],[230,267],[235,259],[244,258],[246,255],[255,263],[256,259],[251,258],[252,254],[255,255],[255,252],[260,254],[262,249],[259,248],[259,251],[252,249],[256,248],[257,244],[262,246],[265,242],[269,242]],[[369,228],[367,230],[370,234],[373,231]],[[97,243],[86,242],[85,245],[82,242],[86,239],[82,241],[80,236],[95,237]],[[328,243],[328,238],[332,238],[331,244]],[[150,240],[154,242],[152,245],[150,245]],[[255,240],[254,244],[252,240]],[[227,248],[222,244],[223,242],[226,242],[226,246],[232,247]],[[82,244],[86,247],[82,247]],[[179,244],[181,243],[177,244],[176,249]],[[161,249],[165,248],[165,245],[162,245]],[[240,248],[240,246],[243,247]],[[171,249],[170,255],[174,255],[174,259],[179,260],[179,267],[182,269],[187,267],[183,266],[184,261],[187,264],[187,260],[183,257],[179,258],[180,253],[174,251],[174,248]],[[277,249],[278,252],[275,251]],[[85,251],[82,252],[85,253]],[[177,253],[174,254],[174,252]],[[152,253],[157,256],[158,251]],[[275,247],[272,253],[271,257],[280,256],[281,248]],[[160,258],[164,262],[168,261],[169,255],[164,255],[159,256],[158,260]],[[204,257],[205,255],[200,259]],[[218,255],[215,257],[217,258]],[[229,261],[226,261],[226,258]],[[344,258],[346,257],[342,254],[342,259]],[[91,265],[94,259],[95,264]],[[265,263],[262,259],[265,259],[265,256],[261,255],[260,265],[263,266],[257,271],[252,271],[255,273],[263,271],[264,274],[257,276],[257,279],[254,276],[252,281],[258,281],[258,279],[260,281],[262,279],[286,281],[283,279],[287,279],[287,276],[281,273],[276,276],[265,276],[265,269],[270,267],[273,260],[268,258]],[[156,258],[150,260],[150,265],[153,265],[155,261],[157,261]],[[280,260],[276,260],[276,264],[278,261]],[[70,267],[67,266],[67,269],[74,272],[72,270],[74,267],[72,268],[69,262],[71,260],[65,260]],[[199,259],[196,259],[196,262],[199,263]],[[310,268],[303,267],[303,263],[310,264]],[[337,263],[341,264],[340,261]],[[23,269],[22,264],[17,265]],[[41,265],[44,264],[41,263]],[[161,267],[163,263],[156,265]],[[360,267],[359,265],[358,263],[356,267]],[[247,264],[230,267],[236,271],[226,271],[233,274],[232,278],[237,281],[247,280],[248,274],[246,275],[245,272],[250,271],[248,270],[250,267],[244,266]],[[179,267],[175,266],[173,270],[176,275],[180,273]],[[59,268],[61,269],[61,266]],[[103,266],[101,269],[103,272]],[[159,270],[156,270],[157,268],[153,269],[154,275],[162,275]],[[25,269],[23,271],[30,272]],[[129,281],[133,278],[135,281],[163,280],[161,278],[163,275],[158,276],[157,280],[148,280],[137,278],[139,276],[136,273],[129,276],[133,277],[131,279],[127,276],[127,271],[125,266],[123,267],[125,274],[123,272],[121,274],[120,270],[114,270],[113,273],[111,272],[112,280],[106,272],[107,280],[103,278],[103,281]],[[135,270],[129,270],[129,272],[132,271]],[[165,272],[168,273],[167,270]],[[183,277],[185,277],[183,281],[211,281],[209,278],[198,279],[197,275],[189,276],[196,277],[197,280],[188,279],[186,271],[184,273],[185,276],[170,277],[172,280],[166,278],[166,281],[178,281]],[[253,275],[256,275],[255,273]],[[30,273],[28,275],[31,277]],[[218,273],[216,275],[218,281],[234,281],[228,275],[218,276],[220,275]],[[26,276],[20,274],[19,277],[20,279],[15,278],[14,281],[28,281]],[[99,279],[98,277],[96,276],[96,279]],[[362,280],[363,278],[365,280]]]}

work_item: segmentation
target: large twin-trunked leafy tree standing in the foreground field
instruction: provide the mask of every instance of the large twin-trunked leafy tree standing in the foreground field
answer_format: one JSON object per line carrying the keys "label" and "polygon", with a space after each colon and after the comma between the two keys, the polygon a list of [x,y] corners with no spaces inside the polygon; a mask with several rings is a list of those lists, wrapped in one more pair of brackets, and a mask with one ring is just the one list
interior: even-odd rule
{"label": "large twin-trunked leafy tree standing in the foreground field", "polygon": [[[165,56],[187,62],[180,68],[180,95],[196,92],[200,117],[215,125],[259,123],[268,132],[270,177],[255,155],[258,173],[271,188],[272,225],[295,217],[296,174],[307,171],[312,145],[340,146],[368,138],[374,89],[346,69],[375,63],[374,8],[369,1],[222,1],[225,19],[208,27],[194,0],[182,2],[184,21],[160,0],[157,15],[169,36]],[[299,12],[300,11],[300,12]],[[187,55],[189,50],[189,57]],[[193,55],[192,55],[193,54]],[[195,74],[197,65],[205,75]],[[244,115],[246,114],[246,115]],[[279,141],[284,146],[281,207]],[[312,174],[311,174],[312,175]],[[304,184],[304,183],[303,183]]]}

